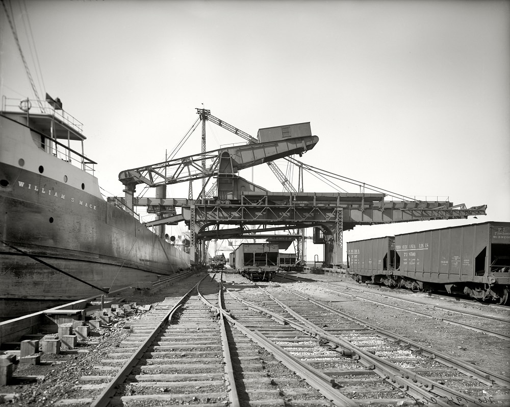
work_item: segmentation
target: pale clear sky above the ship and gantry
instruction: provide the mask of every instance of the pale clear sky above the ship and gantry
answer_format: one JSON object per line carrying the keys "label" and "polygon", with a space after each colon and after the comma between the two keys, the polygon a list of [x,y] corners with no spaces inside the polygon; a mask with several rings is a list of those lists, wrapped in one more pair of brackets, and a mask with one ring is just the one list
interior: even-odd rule
{"label": "pale clear sky above the ship and gantry", "polygon": [[[203,106],[253,136],[310,122],[319,142],[296,158],[326,171],[488,205],[477,219],[356,226],[344,251],[365,238],[510,221],[508,1],[3,1],[39,94],[84,123],[105,196],[123,196],[120,171],[173,152]],[[0,93],[34,98],[3,7]],[[242,141],[212,123],[206,134],[208,151]],[[199,127],[176,157],[199,153],[200,136]],[[297,187],[297,170],[277,165]],[[267,165],[240,175],[283,190]],[[336,190],[305,174],[304,191]],[[188,184],[167,194],[187,198]],[[307,249],[322,259],[320,246]]]}

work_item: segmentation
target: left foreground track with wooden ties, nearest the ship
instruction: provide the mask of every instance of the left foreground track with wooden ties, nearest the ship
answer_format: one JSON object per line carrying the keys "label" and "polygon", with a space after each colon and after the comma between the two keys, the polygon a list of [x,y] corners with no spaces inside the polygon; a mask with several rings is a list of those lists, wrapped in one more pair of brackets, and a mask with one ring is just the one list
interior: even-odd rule
{"label": "left foreground track with wooden ties, nearest the ship", "polygon": [[[221,310],[219,288],[208,275],[182,298],[160,303],[131,325],[131,336],[96,366],[97,375],[82,377],[89,397],[57,405],[330,405],[272,354],[285,360],[281,350]],[[341,394],[330,395],[327,377],[301,370],[322,393],[341,400],[336,405],[355,405]]]}

